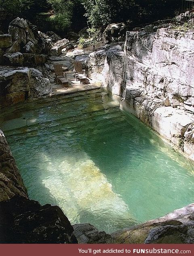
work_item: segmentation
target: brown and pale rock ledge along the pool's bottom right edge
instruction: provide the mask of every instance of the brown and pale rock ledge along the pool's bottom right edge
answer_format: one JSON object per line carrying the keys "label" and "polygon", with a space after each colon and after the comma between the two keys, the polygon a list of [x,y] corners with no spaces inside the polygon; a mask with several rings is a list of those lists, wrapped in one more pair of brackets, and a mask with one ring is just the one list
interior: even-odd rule
{"label": "brown and pale rock ledge along the pool's bottom right edge", "polygon": [[112,234],[90,224],[74,225],[74,234],[78,243],[193,243],[194,204]]}

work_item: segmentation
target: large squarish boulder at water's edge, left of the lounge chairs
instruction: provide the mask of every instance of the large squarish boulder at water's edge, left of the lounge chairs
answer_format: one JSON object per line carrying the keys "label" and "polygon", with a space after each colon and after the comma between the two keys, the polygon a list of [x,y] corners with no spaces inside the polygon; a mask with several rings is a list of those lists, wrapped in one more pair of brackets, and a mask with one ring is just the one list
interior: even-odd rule
{"label": "large squarish boulder at water's edge, left of the lounge chairs", "polygon": [[51,83],[34,68],[0,66],[0,106],[51,93]]}

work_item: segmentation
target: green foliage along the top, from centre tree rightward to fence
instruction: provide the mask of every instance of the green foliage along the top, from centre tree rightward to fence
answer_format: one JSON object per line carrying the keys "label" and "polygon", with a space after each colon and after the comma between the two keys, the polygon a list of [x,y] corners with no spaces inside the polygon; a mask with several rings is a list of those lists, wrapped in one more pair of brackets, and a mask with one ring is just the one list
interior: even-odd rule
{"label": "green foliage along the top, from centre tree rightward to fence", "polygon": [[142,24],[173,17],[181,0],[81,0],[91,28],[105,28],[113,22]]}

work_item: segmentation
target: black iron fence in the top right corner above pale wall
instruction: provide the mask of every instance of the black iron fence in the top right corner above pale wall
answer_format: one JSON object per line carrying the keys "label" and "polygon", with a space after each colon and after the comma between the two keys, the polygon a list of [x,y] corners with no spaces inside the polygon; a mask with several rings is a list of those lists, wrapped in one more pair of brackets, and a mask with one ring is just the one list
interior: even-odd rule
{"label": "black iron fence in the top right corner above pale wall", "polygon": [[194,0],[182,0],[181,22],[194,24]]}

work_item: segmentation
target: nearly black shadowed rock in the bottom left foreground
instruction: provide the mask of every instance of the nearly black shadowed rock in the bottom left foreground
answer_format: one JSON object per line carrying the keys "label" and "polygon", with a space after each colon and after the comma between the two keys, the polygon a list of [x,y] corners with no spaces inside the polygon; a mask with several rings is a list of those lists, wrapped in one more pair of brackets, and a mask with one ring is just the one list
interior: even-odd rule
{"label": "nearly black shadowed rock in the bottom left foreground", "polygon": [[0,202],[0,243],[77,243],[61,209],[15,196]]}

